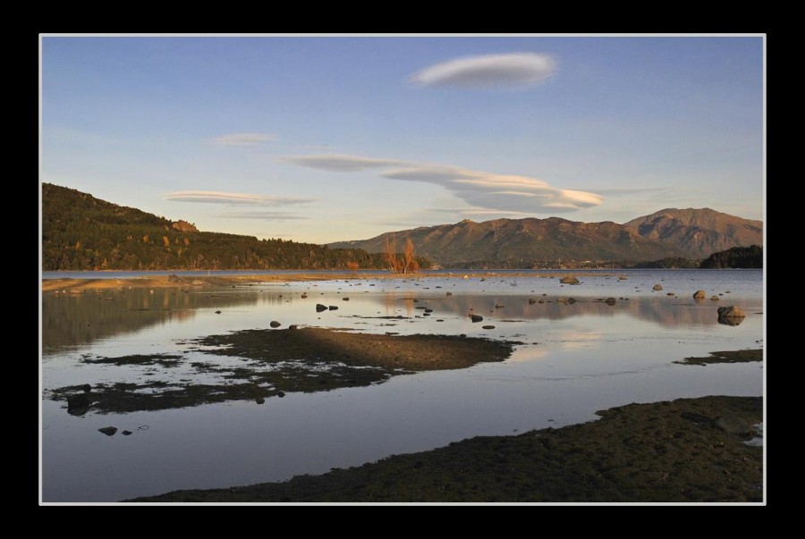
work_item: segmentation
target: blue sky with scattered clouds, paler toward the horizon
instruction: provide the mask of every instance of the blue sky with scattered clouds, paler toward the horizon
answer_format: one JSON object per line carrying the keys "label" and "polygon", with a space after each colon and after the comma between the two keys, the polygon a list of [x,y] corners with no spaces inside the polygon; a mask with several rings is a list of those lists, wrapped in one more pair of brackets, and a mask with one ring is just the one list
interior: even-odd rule
{"label": "blue sky with scattered clouds, paler toward the horizon", "polygon": [[764,220],[762,35],[40,35],[39,181],[326,243]]}

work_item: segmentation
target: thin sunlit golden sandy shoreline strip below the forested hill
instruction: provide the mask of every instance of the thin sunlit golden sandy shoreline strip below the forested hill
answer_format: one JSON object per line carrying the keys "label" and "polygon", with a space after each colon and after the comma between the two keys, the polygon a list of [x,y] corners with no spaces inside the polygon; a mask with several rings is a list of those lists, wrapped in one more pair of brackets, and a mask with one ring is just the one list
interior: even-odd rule
{"label": "thin sunlit golden sandy shoreline strip below the forested hill", "polygon": [[[329,271],[329,270],[327,270]],[[374,271],[374,270],[373,270]],[[126,279],[118,279],[114,277],[108,278],[89,278],[89,279],[75,279],[71,277],[62,277],[55,279],[42,279],[42,291],[89,291],[89,290],[106,290],[114,288],[165,288],[174,287],[180,289],[186,288],[202,288],[213,286],[233,286],[237,284],[249,284],[257,282],[305,282],[305,281],[342,281],[348,279],[379,279],[379,280],[410,280],[410,279],[463,279],[464,276],[470,279],[474,278],[489,278],[489,277],[532,277],[536,279],[558,279],[567,275],[572,276],[585,276],[585,277],[612,277],[619,275],[617,272],[613,273],[591,273],[590,270],[581,271],[555,271],[550,270],[546,273],[533,274],[533,273],[505,273],[500,274],[494,270],[488,271],[461,271],[457,270],[453,274],[360,274],[360,272],[344,271],[343,273],[317,273],[317,272],[304,272],[293,274],[270,274],[258,273],[243,274],[243,275],[199,275],[199,276],[174,276],[174,275],[155,275],[155,276],[142,276]]]}

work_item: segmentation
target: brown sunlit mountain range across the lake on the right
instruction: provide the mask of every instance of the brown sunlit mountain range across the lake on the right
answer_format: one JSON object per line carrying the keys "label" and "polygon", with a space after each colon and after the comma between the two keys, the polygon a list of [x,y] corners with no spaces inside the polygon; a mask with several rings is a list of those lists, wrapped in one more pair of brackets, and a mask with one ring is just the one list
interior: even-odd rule
{"label": "brown sunlit mountain range across the lake on the right", "polygon": [[700,260],[716,250],[762,245],[763,223],[708,208],[669,208],[624,224],[559,217],[464,220],[329,245],[375,253],[383,251],[386,240],[399,243],[408,237],[419,254],[445,267],[631,267],[663,258]]}

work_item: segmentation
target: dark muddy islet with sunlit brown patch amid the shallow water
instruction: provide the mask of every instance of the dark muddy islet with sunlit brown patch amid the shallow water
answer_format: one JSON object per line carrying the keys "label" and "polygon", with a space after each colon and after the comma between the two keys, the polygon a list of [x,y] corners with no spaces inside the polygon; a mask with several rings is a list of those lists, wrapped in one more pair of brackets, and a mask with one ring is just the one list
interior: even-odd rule
{"label": "dark muddy islet with sunlit brown patch amid the shallow water", "polygon": [[[72,385],[54,390],[51,398],[67,402],[68,411],[77,415],[186,408],[229,400],[262,404],[285,392],[329,391],[381,383],[393,375],[415,371],[503,361],[518,344],[452,335],[374,335],[310,327],[244,330],[191,342],[215,347],[203,350],[212,356],[242,358],[242,366],[190,361],[175,354],[82,358],[82,363],[89,364],[184,370],[174,376],[179,378],[176,381]],[[83,406],[70,406],[78,396]]]}

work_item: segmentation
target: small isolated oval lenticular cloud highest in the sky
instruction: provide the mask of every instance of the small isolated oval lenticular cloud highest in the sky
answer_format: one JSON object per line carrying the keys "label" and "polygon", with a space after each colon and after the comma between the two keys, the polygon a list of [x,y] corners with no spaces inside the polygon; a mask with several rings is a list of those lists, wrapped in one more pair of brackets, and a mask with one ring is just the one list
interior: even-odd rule
{"label": "small isolated oval lenticular cloud highest in the sky", "polygon": [[418,86],[452,88],[530,88],[556,72],[553,56],[511,53],[456,58],[411,75]]}

